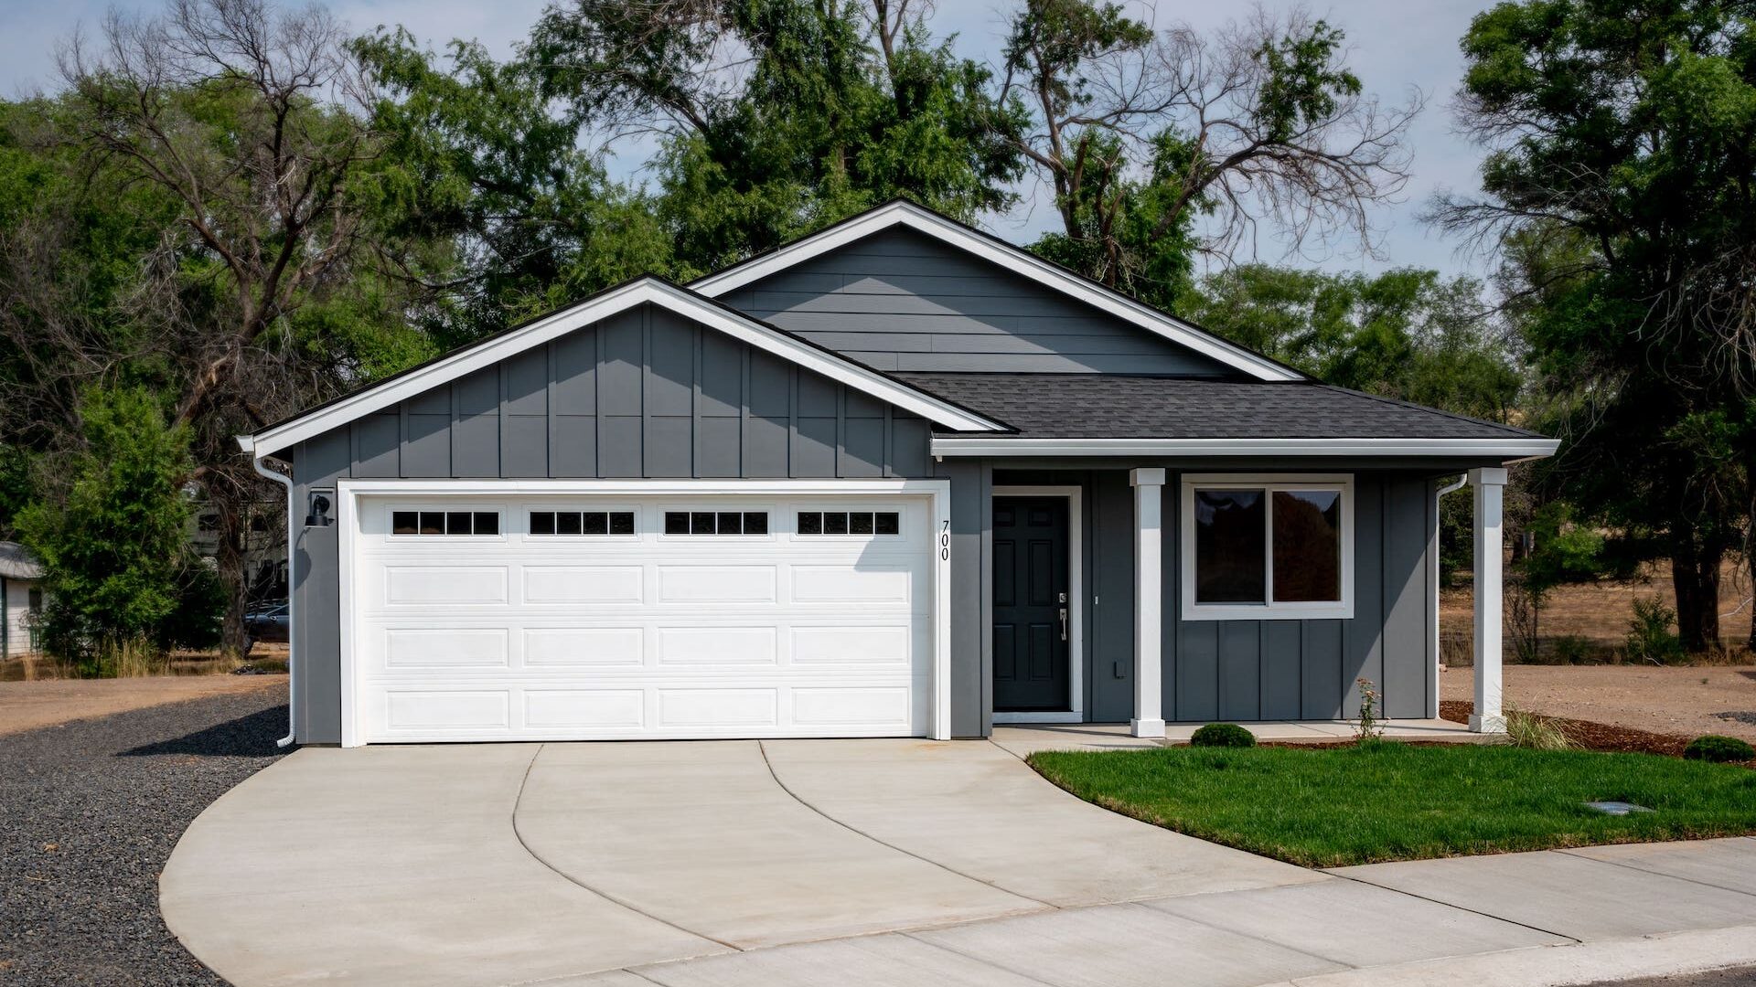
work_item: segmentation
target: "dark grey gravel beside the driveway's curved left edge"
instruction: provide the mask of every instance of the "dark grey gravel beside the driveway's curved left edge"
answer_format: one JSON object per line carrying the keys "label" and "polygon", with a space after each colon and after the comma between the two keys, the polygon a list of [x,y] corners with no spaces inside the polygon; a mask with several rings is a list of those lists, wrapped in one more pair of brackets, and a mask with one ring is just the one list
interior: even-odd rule
{"label": "dark grey gravel beside the driveway's curved left edge", "polygon": [[0,738],[0,983],[223,985],[160,920],[158,871],[284,732],[274,685]]}

